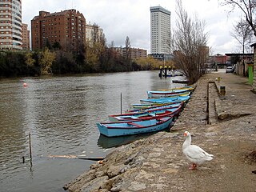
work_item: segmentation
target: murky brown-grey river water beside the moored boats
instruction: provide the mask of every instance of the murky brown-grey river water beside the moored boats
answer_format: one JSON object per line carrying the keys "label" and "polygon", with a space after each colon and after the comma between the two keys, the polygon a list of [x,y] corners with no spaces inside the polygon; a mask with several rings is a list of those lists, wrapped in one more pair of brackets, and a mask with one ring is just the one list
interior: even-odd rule
{"label": "murky brown-grey river water beside the moored boats", "polygon": [[50,155],[104,157],[115,146],[146,137],[106,138],[95,122],[124,113],[146,98],[146,90],[183,86],[171,79],[158,78],[158,71],[1,79],[0,190],[64,191],[94,162]]}

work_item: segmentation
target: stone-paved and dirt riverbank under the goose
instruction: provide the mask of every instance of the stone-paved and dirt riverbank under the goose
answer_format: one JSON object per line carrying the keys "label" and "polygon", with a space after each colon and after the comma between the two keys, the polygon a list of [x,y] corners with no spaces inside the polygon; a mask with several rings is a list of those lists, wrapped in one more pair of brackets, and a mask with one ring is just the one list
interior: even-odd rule
{"label": "stone-paved and dirt riverbank under the goose", "polygon": [[[220,77],[218,82],[216,79]],[[226,95],[219,97],[220,86]],[[174,127],[118,147],[64,188],[69,191],[255,191],[256,95],[247,78],[206,74]],[[214,159],[189,170],[182,136]]]}

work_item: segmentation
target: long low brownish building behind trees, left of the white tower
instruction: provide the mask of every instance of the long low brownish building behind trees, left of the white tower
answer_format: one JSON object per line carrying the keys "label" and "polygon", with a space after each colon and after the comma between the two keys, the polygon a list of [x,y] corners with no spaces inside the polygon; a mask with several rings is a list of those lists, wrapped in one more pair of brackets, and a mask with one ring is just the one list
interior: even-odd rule
{"label": "long low brownish building behind trees, left of the white tower", "polygon": [[[114,50],[116,50],[119,54],[121,54],[123,57],[126,58],[126,47],[114,47]],[[147,51],[142,50],[139,48],[130,48],[130,58],[132,60],[137,58],[146,58],[147,57]]]}

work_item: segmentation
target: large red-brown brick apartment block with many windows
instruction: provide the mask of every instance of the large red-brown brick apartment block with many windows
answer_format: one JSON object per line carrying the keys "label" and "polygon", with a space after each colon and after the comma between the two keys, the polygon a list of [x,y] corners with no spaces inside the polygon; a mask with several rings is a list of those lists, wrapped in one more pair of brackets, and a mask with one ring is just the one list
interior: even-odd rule
{"label": "large red-brown brick apartment block with many windows", "polygon": [[86,19],[77,10],[39,11],[31,20],[31,37],[32,50],[60,46],[75,51],[86,41]]}

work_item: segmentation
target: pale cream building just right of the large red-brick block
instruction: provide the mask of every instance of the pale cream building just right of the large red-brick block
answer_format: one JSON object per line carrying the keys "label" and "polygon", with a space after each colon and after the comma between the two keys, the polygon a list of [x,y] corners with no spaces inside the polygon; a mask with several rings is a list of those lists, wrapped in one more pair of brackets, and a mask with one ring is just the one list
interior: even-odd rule
{"label": "pale cream building just right of the large red-brick block", "polygon": [[86,24],[86,42],[100,42],[103,38],[103,30],[96,24]]}

